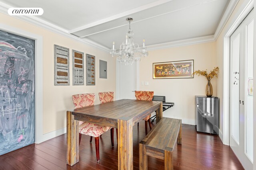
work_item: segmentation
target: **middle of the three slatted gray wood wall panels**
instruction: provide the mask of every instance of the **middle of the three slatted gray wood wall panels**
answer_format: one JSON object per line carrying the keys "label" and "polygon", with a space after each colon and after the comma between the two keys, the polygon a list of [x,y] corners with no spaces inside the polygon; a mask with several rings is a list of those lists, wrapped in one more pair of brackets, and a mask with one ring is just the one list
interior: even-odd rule
{"label": "middle of the three slatted gray wood wall panels", "polygon": [[84,53],[72,50],[73,85],[84,85]]}

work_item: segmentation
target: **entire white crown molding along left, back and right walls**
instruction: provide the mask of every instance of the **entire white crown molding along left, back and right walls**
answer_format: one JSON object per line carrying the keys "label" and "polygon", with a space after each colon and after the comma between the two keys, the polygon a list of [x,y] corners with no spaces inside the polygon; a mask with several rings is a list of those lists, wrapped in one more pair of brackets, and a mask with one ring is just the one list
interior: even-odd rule
{"label": "entire white crown molding along left, back and right walls", "polygon": [[[164,2],[164,1],[165,0],[162,0],[162,2]],[[168,43],[160,43],[160,44],[155,44],[155,45],[149,45],[149,46],[147,46],[148,51],[158,50],[158,49],[166,49],[166,48],[171,48],[171,47],[180,47],[180,46],[186,46],[186,45],[194,45],[194,44],[200,44],[200,43],[209,43],[209,42],[216,41],[218,36],[220,35],[222,29],[226,25],[228,19],[230,18],[230,16],[231,16],[234,8],[236,7],[236,4],[238,3],[238,1],[239,0],[230,0],[230,3],[228,4],[227,9],[226,9],[225,13],[222,16],[222,19],[220,20],[220,23],[219,23],[214,35],[205,36],[205,37],[197,37],[197,38],[192,38],[192,39],[183,39],[183,40],[178,40],[178,41],[171,41],[171,42],[168,42]],[[7,11],[8,11],[9,8],[12,8],[12,6],[9,6],[7,4],[4,4],[4,3],[0,2],[0,12],[1,13],[8,15]],[[91,41],[87,38],[81,39],[81,38],[76,37],[72,34],[69,34],[69,32],[72,32],[74,30],[68,31],[66,29],[58,27],[58,26],[56,26],[52,23],[44,21],[44,20],[42,20],[40,18],[37,18],[35,16],[12,16],[12,17],[17,18],[17,19],[22,20],[22,21],[26,21],[26,22],[31,23],[33,25],[36,25],[38,27],[42,27],[44,29],[47,29],[48,31],[52,31],[52,32],[57,33],[59,35],[62,35],[64,37],[73,39],[74,41],[83,43],[83,44],[88,45],[90,47],[94,47],[96,49],[99,49],[101,51],[109,53],[109,49],[107,47],[104,47],[103,45],[95,43],[94,41]]]}

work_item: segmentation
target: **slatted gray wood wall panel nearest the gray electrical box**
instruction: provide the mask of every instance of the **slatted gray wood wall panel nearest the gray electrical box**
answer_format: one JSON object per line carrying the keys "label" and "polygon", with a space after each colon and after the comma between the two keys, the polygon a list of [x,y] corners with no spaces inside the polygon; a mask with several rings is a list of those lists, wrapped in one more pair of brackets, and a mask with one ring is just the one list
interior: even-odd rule
{"label": "slatted gray wood wall panel nearest the gray electrical box", "polygon": [[86,54],[86,86],[95,86],[95,56]]}

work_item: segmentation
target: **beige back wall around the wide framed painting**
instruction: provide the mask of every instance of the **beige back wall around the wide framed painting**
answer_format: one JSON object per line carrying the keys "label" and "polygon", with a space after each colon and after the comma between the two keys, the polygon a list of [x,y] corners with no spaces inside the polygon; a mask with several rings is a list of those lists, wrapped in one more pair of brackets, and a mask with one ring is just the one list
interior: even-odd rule
{"label": "beige back wall around the wide framed painting", "polygon": [[[140,90],[152,90],[154,95],[166,96],[166,102],[175,106],[164,111],[164,117],[182,119],[182,123],[195,124],[195,96],[205,96],[207,80],[204,76],[194,78],[153,79],[152,63],[194,59],[194,70],[212,70],[216,61],[216,43],[202,43],[184,47],[149,51],[140,62]],[[141,82],[149,82],[142,86]],[[213,96],[216,94],[216,78],[211,80]]]}

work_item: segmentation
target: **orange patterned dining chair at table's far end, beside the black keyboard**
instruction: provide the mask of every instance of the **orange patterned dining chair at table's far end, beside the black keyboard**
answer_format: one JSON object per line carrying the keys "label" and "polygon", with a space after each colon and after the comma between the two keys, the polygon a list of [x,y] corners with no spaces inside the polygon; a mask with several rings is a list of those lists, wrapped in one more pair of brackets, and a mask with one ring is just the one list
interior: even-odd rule
{"label": "orange patterned dining chair at table's far end, beside the black keyboard", "polygon": [[[152,92],[152,91],[135,91],[135,97],[137,100],[152,101],[153,96],[154,96],[154,92]],[[143,119],[145,121],[146,135],[148,134],[148,124],[149,124],[150,129],[152,129],[150,117],[151,117],[151,114]],[[139,126],[139,123],[138,123],[138,126]]]}

